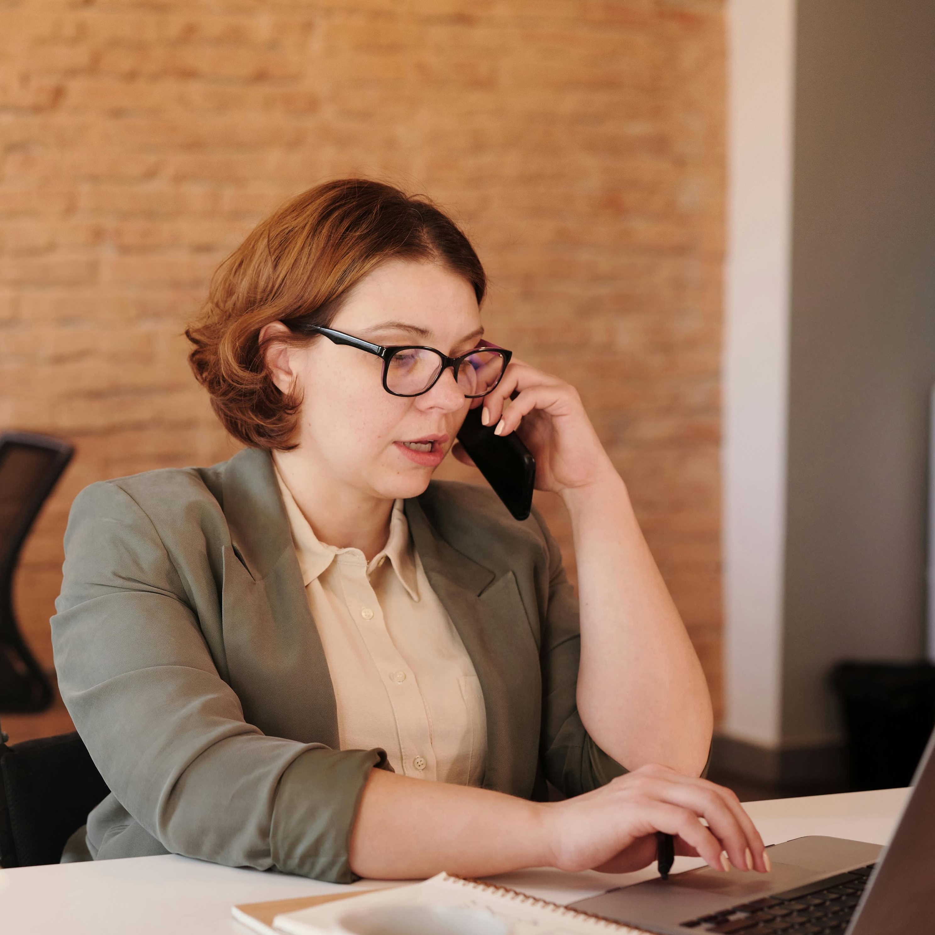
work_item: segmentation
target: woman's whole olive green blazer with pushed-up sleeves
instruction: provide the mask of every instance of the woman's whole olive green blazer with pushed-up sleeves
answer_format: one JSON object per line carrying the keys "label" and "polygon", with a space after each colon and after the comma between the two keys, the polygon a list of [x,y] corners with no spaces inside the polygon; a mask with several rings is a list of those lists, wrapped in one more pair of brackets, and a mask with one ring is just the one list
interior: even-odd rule
{"label": "woman's whole olive green blazer with pushed-up sleeves", "polygon": [[[575,704],[578,602],[537,513],[431,482],[415,548],[481,683],[483,786],[568,796],[625,770]],[[266,451],[94,483],[51,619],[68,712],[111,790],[92,856],[174,853],[356,879],[348,838],[382,750],[340,750],[334,690]],[[623,677],[623,673],[621,675]]]}

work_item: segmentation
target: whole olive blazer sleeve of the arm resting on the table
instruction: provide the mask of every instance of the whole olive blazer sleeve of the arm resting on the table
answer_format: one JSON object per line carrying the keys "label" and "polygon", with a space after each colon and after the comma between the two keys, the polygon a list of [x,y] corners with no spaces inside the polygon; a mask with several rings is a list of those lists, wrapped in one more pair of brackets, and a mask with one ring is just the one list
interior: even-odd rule
{"label": "whole olive blazer sleeve of the arm resting on the table", "polygon": [[174,854],[357,879],[350,832],[385,754],[268,737],[246,723],[179,571],[117,484],[93,484],[75,500],[56,611],[65,705],[139,827]]}

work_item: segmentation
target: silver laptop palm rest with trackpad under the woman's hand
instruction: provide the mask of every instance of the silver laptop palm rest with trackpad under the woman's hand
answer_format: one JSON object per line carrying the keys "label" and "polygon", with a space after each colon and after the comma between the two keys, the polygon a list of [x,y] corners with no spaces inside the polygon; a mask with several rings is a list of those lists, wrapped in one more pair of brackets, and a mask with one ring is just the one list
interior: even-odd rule
{"label": "silver laptop palm rest with trackpad under the woman's hand", "polygon": [[668,880],[656,878],[581,899],[571,903],[571,908],[642,928],[677,927],[699,915],[863,867],[876,860],[880,846],[841,838],[809,837],[786,841],[769,850],[771,873],[688,870]]}

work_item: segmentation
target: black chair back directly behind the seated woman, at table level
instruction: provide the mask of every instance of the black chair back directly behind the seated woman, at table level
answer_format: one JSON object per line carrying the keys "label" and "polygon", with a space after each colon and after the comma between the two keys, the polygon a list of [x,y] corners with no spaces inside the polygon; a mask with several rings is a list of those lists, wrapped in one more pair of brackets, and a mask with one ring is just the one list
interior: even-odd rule
{"label": "black chair back directly behind the seated woman, at table level", "polygon": [[107,784],[78,734],[6,740],[0,735],[0,867],[57,864]]}

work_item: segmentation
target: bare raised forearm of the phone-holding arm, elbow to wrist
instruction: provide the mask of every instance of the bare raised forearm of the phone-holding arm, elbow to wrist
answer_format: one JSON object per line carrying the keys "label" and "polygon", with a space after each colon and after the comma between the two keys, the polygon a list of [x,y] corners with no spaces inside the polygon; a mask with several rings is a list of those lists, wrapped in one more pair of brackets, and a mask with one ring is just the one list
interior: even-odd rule
{"label": "bare raised forearm of the phone-holding arm, elbow to wrist", "polygon": [[655,762],[697,775],[711,742],[711,699],[626,485],[608,471],[563,499],[578,564],[583,724],[629,770]]}

